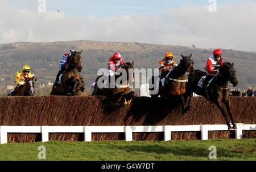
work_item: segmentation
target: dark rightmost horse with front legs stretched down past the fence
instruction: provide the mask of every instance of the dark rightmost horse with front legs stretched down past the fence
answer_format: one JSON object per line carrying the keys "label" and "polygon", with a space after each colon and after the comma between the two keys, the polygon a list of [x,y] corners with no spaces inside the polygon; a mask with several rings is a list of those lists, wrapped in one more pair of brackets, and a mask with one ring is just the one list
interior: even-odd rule
{"label": "dark rightmost horse with front legs stretched down past the fence", "polygon": [[195,74],[189,74],[186,93],[184,95],[185,98],[189,96],[189,103],[187,108],[185,108],[185,110],[183,111],[183,115],[185,115],[191,107],[191,99],[193,97],[193,92],[195,92],[196,94],[203,96],[207,100],[209,98],[209,102],[213,102],[217,105],[218,109],[220,109],[223,117],[226,120],[228,130],[230,130],[232,129],[232,127],[229,124],[224,108],[222,108],[221,106],[221,102],[224,103],[226,109],[228,110],[229,117],[232,121],[233,129],[236,129],[237,127],[232,117],[232,112],[229,106],[228,86],[229,81],[233,84],[233,87],[236,87],[238,83],[236,78],[236,70],[234,70],[234,63],[231,64],[229,62],[224,62],[223,65],[219,68],[219,73],[214,76],[207,90],[202,89],[200,88],[200,86],[198,86],[200,79],[205,75],[207,74],[200,70],[196,70]]}

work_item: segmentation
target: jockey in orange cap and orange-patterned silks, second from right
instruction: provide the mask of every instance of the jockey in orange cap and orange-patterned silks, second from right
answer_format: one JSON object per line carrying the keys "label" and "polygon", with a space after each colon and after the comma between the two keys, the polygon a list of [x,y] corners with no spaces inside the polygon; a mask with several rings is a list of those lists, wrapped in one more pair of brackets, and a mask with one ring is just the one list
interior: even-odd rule
{"label": "jockey in orange cap and orange-patterned silks, second from right", "polygon": [[[177,66],[177,63],[172,60],[173,58],[174,55],[171,52],[167,52],[162,61],[159,62],[159,79],[165,79],[172,69]],[[162,84],[163,82],[164,80],[162,80]]]}

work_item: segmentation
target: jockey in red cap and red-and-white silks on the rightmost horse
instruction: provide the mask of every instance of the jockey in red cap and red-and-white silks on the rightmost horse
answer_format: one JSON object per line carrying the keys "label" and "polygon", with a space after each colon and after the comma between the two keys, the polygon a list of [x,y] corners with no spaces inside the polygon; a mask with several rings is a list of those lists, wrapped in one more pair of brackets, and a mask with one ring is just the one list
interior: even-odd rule
{"label": "jockey in red cap and red-and-white silks on the rightmost horse", "polygon": [[216,49],[213,51],[213,55],[211,55],[207,62],[205,62],[204,70],[207,73],[207,76],[204,79],[203,89],[207,93],[208,97],[208,82],[213,79],[213,76],[218,74],[218,69],[223,65],[224,60],[221,58],[222,51],[220,49]]}

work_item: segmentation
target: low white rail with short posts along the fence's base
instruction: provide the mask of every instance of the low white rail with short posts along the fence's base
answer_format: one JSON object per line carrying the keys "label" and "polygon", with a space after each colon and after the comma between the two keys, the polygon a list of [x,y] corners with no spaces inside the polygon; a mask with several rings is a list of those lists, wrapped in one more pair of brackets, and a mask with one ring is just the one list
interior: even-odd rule
{"label": "low white rail with short posts along the fence's base", "polygon": [[[237,123],[236,139],[243,130],[256,130],[256,124]],[[125,140],[133,140],[133,132],[164,132],[164,141],[171,140],[171,132],[201,131],[201,140],[208,139],[208,131],[228,131],[225,124],[185,126],[0,126],[0,144],[7,143],[7,133],[42,133],[42,141],[49,140],[49,132],[84,133],[85,141],[92,141],[92,133],[125,132]]]}

